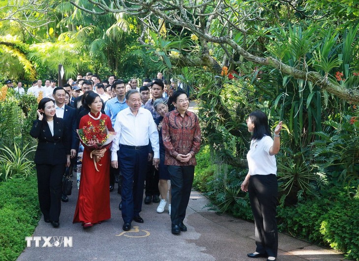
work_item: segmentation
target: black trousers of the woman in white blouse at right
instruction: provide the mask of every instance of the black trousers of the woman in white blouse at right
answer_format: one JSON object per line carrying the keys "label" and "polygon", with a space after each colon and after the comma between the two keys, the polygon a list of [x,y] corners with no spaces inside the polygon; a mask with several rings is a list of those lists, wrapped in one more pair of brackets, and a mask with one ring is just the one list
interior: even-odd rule
{"label": "black trousers of the woman in white blouse at right", "polygon": [[276,206],[278,182],[274,174],[252,175],[248,185],[249,200],[256,227],[256,252],[277,257],[278,230]]}

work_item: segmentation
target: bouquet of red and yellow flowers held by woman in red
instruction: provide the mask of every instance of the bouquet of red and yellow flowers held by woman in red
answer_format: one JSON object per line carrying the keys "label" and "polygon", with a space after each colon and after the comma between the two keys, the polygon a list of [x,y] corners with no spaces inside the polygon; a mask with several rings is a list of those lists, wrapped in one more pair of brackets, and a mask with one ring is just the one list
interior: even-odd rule
{"label": "bouquet of red and yellow flowers held by woman in red", "polygon": [[[109,145],[115,139],[117,133],[109,131],[105,126],[105,121],[100,119],[100,123],[96,126],[93,126],[89,121],[88,126],[84,126],[82,129],[77,130],[77,134],[85,147],[101,149]],[[94,155],[92,156],[92,152],[90,153],[90,157],[93,158],[95,169],[98,171],[96,163],[101,158]],[[101,166],[101,164],[99,165]]]}

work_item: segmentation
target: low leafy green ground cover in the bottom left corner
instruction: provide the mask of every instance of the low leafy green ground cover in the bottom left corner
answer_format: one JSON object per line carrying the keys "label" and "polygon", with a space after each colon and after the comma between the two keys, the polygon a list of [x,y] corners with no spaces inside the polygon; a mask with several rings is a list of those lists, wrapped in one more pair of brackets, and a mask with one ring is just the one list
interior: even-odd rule
{"label": "low leafy green ground cover in the bottom left corner", "polygon": [[0,182],[0,259],[16,260],[40,218],[35,175]]}

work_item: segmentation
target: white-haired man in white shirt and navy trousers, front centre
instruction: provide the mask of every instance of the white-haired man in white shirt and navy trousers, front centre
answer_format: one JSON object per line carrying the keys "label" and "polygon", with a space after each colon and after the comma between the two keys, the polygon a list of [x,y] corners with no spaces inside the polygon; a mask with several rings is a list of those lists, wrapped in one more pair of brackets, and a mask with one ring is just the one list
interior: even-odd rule
{"label": "white-haired man in white shirt and navy trousers, front centre", "polygon": [[154,152],[152,164],[155,168],[159,164],[159,143],[157,127],[150,111],[141,108],[140,93],[130,89],[125,98],[129,108],[120,111],[116,117],[114,128],[117,135],[111,145],[111,166],[115,169],[120,167],[122,173],[122,229],[129,231],[132,220],[144,222],[140,212],[147,169],[145,162],[151,157],[149,140]]}

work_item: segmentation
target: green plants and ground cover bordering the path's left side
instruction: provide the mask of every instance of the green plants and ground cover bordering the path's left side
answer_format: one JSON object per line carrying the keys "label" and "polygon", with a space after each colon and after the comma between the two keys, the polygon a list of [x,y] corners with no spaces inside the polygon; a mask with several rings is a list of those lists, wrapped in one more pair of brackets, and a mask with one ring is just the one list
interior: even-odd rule
{"label": "green plants and ground cover bordering the path's left side", "polygon": [[16,260],[39,220],[30,137],[36,98],[0,89],[0,259]]}

